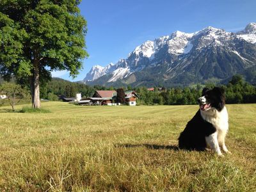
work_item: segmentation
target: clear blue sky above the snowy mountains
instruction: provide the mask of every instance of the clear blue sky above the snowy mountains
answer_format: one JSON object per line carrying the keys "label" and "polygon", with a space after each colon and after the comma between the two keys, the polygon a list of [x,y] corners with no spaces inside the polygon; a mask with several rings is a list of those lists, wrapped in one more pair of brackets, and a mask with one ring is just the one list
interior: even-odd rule
{"label": "clear blue sky above the snowy mountains", "polygon": [[116,63],[143,42],[174,31],[193,33],[212,26],[236,32],[256,22],[256,0],[82,0],[79,8],[87,20],[90,57],[75,79],[67,71],[52,73],[70,81],[84,79],[93,65]]}

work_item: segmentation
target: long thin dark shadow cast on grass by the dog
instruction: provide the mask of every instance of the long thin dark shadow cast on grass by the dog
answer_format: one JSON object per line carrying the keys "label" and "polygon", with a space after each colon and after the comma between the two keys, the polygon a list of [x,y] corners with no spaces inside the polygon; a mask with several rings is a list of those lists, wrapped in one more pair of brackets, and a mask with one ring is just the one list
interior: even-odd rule
{"label": "long thin dark shadow cast on grass by the dog", "polygon": [[168,150],[180,150],[177,145],[153,145],[153,144],[116,144],[115,147],[134,148],[134,147],[147,147],[150,149],[168,149]]}

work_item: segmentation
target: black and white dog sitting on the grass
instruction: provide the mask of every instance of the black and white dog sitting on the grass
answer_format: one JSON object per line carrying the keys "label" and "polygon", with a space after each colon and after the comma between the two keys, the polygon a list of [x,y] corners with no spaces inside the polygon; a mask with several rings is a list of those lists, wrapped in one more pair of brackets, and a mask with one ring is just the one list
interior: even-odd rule
{"label": "black and white dog sitting on the grass", "polygon": [[223,90],[218,87],[212,90],[204,88],[198,102],[200,109],[180,133],[179,148],[205,150],[208,147],[222,156],[221,147],[224,152],[230,153],[225,145],[228,113]]}

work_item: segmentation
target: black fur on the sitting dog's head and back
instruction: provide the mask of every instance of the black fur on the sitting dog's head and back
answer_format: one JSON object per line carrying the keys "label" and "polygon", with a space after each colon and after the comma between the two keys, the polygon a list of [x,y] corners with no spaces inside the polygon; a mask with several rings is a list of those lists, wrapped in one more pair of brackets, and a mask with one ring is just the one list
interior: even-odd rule
{"label": "black fur on the sitting dog's head and back", "polygon": [[[212,108],[221,111],[225,105],[225,97],[221,88],[215,87],[212,90],[204,88],[202,96],[206,102],[211,104]],[[206,122],[201,114],[200,109],[196,115],[188,122],[186,128],[179,136],[179,148],[188,150],[204,150],[206,146],[205,136],[216,132],[216,128],[209,122]]]}

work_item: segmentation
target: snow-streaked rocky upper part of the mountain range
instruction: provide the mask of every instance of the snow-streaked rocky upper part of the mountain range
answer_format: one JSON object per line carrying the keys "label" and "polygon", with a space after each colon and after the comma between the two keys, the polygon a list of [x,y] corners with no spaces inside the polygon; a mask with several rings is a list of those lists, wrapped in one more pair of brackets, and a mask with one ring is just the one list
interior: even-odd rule
{"label": "snow-streaked rocky upper part of the mountain range", "polygon": [[[86,74],[84,81],[93,81],[108,74],[108,82],[114,82],[130,76],[134,72],[161,65],[161,63],[168,63],[173,67],[172,65],[176,65],[175,62],[182,61],[186,63],[189,57],[192,58],[198,51],[205,51],[205,48],[214,51],[215,47],[225,47],[226,49],[230,45],[235,46],[237,42],[233,41],[237,38],[241,41],[246,40],[256,44],[256,23],[248,24],[243,31],[237,33],[230,33],[209,26],[195,33],[175,31],[153,41],[148,40],[136,47],[126,59],[121,59],[115,64],[109,63],[106,67],[93,66],[90,72]],[[234,47],[231,47],[230,50],[242,58],[243,61],[247,60]]]}

